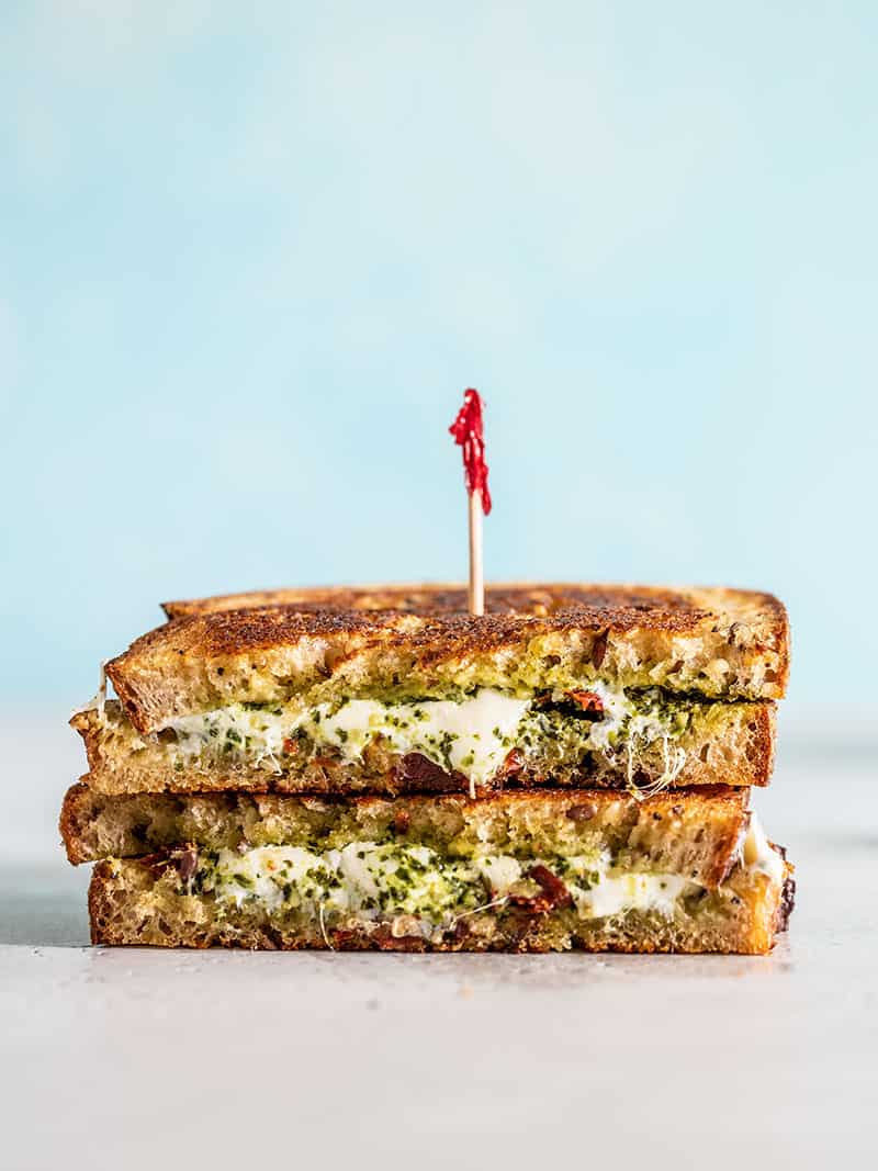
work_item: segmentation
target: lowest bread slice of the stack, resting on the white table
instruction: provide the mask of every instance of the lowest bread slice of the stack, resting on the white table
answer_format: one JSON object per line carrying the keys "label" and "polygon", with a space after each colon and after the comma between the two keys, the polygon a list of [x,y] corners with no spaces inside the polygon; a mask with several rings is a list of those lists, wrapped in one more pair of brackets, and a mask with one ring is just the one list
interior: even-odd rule
{"label": "lowest bread slice of the stack, resting on the white table", "polygon": [[725,886],[678,909],[673,918],[627,912],[582,919],[555,906],[530,911],[494,906],[461,916],[439,938],[411,932],[403,917],[321,926],[284,919],[259,908],[219,910],[208,895],[180,893],[170,872],[157,875],[139,861],[102,862],[89,888],[95,944],[160,947],[246,947],[296,951],[617,951],[764,954],[783,931],[790,905],[790,875],[774,883],[738,867]]}

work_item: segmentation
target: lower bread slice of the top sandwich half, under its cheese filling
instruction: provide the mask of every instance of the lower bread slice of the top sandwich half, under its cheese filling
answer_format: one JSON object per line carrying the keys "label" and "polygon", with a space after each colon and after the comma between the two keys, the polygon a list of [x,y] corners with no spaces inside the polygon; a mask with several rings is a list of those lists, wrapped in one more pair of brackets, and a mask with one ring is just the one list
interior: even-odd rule
{"label": "lower bread slice of the top sandwich half, under its cheese filling", "polygon": [[[85,742],[89,785],[101,793],[469,790],[462,773],[448,772],[417,753],[393,752],[380,738],[355,761],[327,751],[303,751],[299,742],[290,742],[295,752],[258,760],[224,753],[183,753],[170,732],[137,732],[112,700],[102,712],[78,712],[70,723]],[[522,767],[499,771],[474,792],[541,786],[763,786],[771,776],[774,740],[775,705],[770,700],[691,704],[686,725],[672,744],[659,738],[649,744],[623,742],[583,752],[575,741],[557,739],[534,746],[522,755]],[[668,753],[674,755],[673,775],[667,772]]]}

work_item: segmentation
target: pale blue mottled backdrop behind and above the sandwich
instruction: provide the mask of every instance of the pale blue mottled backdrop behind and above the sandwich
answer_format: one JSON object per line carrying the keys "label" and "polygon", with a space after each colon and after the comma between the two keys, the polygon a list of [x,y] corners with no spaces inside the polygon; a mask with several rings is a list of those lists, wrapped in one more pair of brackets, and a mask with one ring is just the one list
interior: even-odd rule
{"label": "pale blue mottled backdrop behind and above the sandwich", "polygon": [[255,7],[2,6],[5,697],[465,575],[466,385],[489,576],[770,589],[865,692],[876,6]]}

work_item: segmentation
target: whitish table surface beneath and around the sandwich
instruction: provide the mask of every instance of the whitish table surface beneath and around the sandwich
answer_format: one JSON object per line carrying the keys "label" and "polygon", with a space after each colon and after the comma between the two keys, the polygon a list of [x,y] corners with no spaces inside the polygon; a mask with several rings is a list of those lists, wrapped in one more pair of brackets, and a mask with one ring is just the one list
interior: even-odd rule
{"label": "whitish table surface beneath and around the sandwich", "polygon": [[91,949],[54,828],[77,746],[55,721],[0,731],[9,1171],[876,1165],[869,728],[856,751],[800,728],[757,795],[798,868],[768,958]]}

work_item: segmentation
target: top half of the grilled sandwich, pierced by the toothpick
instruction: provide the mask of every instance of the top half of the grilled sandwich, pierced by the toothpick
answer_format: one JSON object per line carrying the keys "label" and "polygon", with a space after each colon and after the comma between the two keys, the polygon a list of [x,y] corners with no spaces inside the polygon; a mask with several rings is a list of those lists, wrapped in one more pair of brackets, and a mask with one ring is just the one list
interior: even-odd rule
{"label": "top half of the grilled sandwich, pierced by the toothpick", "polygon": [[121,707],[74,718],[97,787],[331,792],[335,772],[339,789],[475,792],[770,772],[789,632],[767,594],[496,586],[476,618],[460,588],[395,586],[165,611],[107,666]]}

